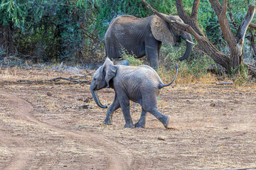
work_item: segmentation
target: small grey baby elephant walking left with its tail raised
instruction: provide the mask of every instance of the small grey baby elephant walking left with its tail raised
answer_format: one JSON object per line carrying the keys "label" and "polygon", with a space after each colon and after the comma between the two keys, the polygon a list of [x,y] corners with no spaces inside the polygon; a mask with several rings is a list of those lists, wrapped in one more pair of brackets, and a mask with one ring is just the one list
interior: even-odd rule
{"label": "small grey baby elephant walking left with its tail raised", "polygon": [[[177,77],[178,66],[176,66]],[[100,103],[97,91],[110,87],[114,89],[114,101],[107,109],[107,116],[103,123],[112,124],[112,113],[117,108],[122,108],[126,124],[124,128],[145,128],[146,112],[153,114],[165,128],[169,128],[169,115],[164,115],[157,110],[157,96],[159,91],[169,84],[164,84],[154,69],[142,65],[138,67],[114,65],[107,57],[104,64],[97,69],[92,77],[90,90],[92,96],[100,108],[107,108]],[[142,106],[142,115],[137,123],[132,123],[132,117],[129,111],[129,100],[139,103]]]}

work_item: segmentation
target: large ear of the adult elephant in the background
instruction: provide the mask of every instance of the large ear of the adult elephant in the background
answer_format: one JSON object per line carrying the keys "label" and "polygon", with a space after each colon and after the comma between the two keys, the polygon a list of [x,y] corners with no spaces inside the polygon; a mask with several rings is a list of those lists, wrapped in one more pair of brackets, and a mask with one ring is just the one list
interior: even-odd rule
{"label": "large ear of the adult elephant in the background", "polygon": [[[164,13],[161,13],[161,14],[164,16],[167,16]],[[156,15],[153,16],[150,22],[150,27],[154,35],[154,38],[156,38],[156,40],[164,42],[168,45],[175,44],[174,35],[171,33],[170,29],[168,28],[166,21],[159,18],[159,16],[156,16]]]}

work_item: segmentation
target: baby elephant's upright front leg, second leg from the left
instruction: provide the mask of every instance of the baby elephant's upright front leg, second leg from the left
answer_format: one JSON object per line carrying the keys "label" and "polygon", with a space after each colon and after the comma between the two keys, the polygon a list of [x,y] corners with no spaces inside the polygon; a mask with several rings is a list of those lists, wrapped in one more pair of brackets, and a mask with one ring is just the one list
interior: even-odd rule
{"label": "baby elephant's upright front leg, second leg from the left", "polygon": [[124,114],[125,125],[124,128],[134,128],[134,123],[132,122],[132,116],[129,110],[129,98],[124,91],[117,91],[118,100]]}

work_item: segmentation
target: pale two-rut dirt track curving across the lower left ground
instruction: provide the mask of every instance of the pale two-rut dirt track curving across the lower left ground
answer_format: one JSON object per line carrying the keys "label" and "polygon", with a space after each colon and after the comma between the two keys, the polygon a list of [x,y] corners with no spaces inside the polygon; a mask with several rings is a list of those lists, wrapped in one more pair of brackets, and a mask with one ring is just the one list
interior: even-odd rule
{"label": "pale two-rut dirt track curving across the lower left ground", "polygon": [[[81,140],[85,143],[85,147],[90,147],[100,150],[104,153],[103,158],[107,169],[130,169],[132,167],[133,155],[127,151],[124,147],[117,144],[117,142],[107,140],[102,135],[95,135],[92,132],[79,132],[75,130],[65,130],[55,125],[47,123],[41,123],[30,114],[33,111],[33,107],[30,103],[18,98],[15,95],[9,94],[6,91],[0,91],[1,102],[7,104],[6,110],[12,110],[16,121],[21,121],[26,124],[30,124],[32,127],[36,125],[40,127],[38,130],[52,130],[56,135],[63,136],[63,140]],[[3,100],[4,98],[4,100]],[[6,145],[12,150],[13,156],[6,162],[2,168],[4,169],[26,169],[29,165],[29,160],[35,155],[34,152],[36,145],[30,141],[23,140],[22,137],[12,137],[6,132],[1,132],[1,144]],[[113,147],[114,146],[114,147]],[[54,152],[54,151],[53,151]],[[53,152],[49,154],[53,154]],[[82,152],[82,151],[81,151]],[[102,155],[95,155],[95,157],[102,157]],[[57,161],[57,160],[56,160]],[[29,165],[31,166],[31,165]],[[67,165],[64,165],[64,167]],[[89,169],[90,167],[84,164],[80,164],[81,169]],[[92,167],[93,169],[93,167]],[[97,166],[96,169],[99,169]]]}

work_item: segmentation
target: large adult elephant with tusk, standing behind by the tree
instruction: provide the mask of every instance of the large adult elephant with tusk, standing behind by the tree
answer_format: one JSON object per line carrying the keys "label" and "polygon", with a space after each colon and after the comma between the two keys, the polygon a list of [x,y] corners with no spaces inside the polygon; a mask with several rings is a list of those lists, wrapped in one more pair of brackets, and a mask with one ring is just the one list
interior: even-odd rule
{"label": "large adult elephant with tusk, standing behind by the tree", "polygon": [[[179,16],[167,16],[171,20],[183,21]],[[107,56],[110,59],[120,57],[120,47],[136,55],[137,58],[146,55],[150,66],[156,69],[159,66],[159,51],[161,43],[177,45],[181,38],[186,40],[186,52],[179,60],[185,60],[191,55],[193,40],[189,33],[167,23],[159,16],[136,18],[123,15],[114,18],[105,34]]]}

